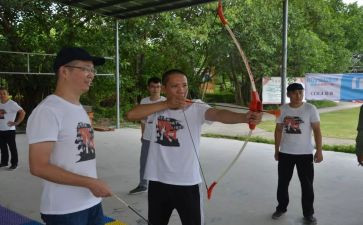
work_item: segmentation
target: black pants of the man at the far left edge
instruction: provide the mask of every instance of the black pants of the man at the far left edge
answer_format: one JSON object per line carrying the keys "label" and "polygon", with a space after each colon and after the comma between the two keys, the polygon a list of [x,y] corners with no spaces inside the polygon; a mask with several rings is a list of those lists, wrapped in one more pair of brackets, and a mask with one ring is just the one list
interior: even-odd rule
{"label": "black pants of the man at the far left edge", "polygon": [[11,165],[18,165],[18,150],[15,142],[15,130],[0,131],[0,150],[1,150],[1,164],[9,163],[9,151],[11,155]]}

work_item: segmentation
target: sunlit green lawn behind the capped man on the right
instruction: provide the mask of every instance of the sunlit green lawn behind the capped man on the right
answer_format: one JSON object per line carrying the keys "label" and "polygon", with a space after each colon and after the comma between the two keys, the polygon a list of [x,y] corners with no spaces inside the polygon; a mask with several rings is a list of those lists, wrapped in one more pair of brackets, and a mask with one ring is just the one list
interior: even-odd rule
{"label": "sunlit green lawn behind the capped man on the right", "polygon": [[[354,140],[357,136],[359,108],[321,113],[320,126],[324,137]],[[259,128],[274,132],[275,121],[264,121]]]}

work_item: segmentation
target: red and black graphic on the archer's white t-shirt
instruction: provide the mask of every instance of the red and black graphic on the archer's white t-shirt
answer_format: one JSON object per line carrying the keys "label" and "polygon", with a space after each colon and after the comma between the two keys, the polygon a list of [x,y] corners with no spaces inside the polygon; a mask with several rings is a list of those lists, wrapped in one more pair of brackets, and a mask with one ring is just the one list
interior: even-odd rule
{"label": "red and black graphic on the archer's white t-shirt", "polygon": [[179,147],[180,143],[176,136],[176,132],[183,128],[180,121],[165,116],[159,116],[156,124],[156,143],[163,146]]}

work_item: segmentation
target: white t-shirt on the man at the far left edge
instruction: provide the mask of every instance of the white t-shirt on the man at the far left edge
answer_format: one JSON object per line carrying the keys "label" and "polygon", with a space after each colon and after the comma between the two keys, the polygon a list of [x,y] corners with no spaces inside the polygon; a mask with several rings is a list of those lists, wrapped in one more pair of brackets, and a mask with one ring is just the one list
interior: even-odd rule
{"label": "white t-shirt on the man at the far left edge", "polygon": [[22,108],[11,99],[4,104],[0,102],[0,130],[15,130],[15,126],[9,127],[8,122],[15,122],[19,110],[22,110]]}

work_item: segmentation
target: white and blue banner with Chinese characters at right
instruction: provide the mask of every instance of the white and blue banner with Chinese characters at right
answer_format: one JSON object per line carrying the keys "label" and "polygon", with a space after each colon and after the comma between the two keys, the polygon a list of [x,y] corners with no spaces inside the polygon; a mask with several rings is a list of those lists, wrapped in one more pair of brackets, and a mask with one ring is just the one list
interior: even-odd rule
{"label": "white and blue banner with Chinese characters at right", "polygon": [[363,100],[363,74],[306,74],[305,97],[308,100]]}

